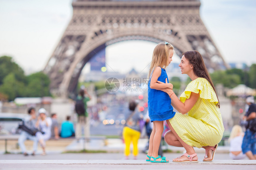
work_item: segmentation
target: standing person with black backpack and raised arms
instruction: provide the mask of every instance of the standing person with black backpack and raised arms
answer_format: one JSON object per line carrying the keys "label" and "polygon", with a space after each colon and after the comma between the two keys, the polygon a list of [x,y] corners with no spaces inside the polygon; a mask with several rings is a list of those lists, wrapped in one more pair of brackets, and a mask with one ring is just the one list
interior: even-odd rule
{"label": "standing person with black backpack and raised arms", "polygon": [[[85,123],[89,123],[87,110],[87,101],[90,101],[91,96],[87,92],[86,88],[79,90],[79,95],[77,96],[75,110],[78,116],[78,122],[76,124],[76,138],[81,138],[82,132],[85,135]],[[89,128],[89,125],[88,125]],[[88,131],[87,131],[88,132]],[[88,132],[89,133],[89,132]]]}

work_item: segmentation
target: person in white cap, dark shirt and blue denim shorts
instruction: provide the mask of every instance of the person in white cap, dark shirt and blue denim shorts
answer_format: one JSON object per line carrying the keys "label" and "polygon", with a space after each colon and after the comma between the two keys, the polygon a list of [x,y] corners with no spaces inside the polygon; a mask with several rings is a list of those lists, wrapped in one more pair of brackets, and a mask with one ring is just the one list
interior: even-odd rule
{"label": "person in white cap, dark shirt and blue denim shorts", "polygon": [[251,159],[256,159],[256,104],[254,104],[254,97],[248,96],[246,104],[249,105],[248,111],[243,117],[247,121],[245,125],[246,131],[243,137],[242,151]]}

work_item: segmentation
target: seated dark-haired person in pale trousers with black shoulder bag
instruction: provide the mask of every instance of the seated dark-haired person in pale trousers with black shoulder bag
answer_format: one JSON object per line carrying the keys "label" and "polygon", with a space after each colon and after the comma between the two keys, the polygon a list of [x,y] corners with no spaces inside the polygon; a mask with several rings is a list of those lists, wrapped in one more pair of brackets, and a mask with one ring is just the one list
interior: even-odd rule
{"label": "seated dark-haired person in pale trousers with black shoulder bag", "polygon": [[[30,130],[35,130],[35,124],[36,124],[36,113],[35,113],[35,108],[30,107],[28,109],[28,114],[29,116],[24,118],[24,125],[26,125],[26,127],[28,127]],[[38,140],[36,138],[36,136],[32,136],[31,134],[29,134],[26,131],[21,131],[21,135],[18,139],[18,144],[21,147],[21,151],[23,153],[24,156],[27,156],[27,150],[26,150],[26,146],[24,144],[24,142],[29,139],[34,141],[33,143],[33,152],[32,155],[35,155],[35,152],[37,150],[37,144],[38,144]]]}

